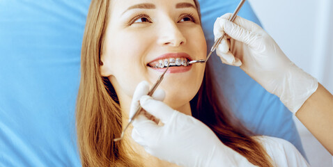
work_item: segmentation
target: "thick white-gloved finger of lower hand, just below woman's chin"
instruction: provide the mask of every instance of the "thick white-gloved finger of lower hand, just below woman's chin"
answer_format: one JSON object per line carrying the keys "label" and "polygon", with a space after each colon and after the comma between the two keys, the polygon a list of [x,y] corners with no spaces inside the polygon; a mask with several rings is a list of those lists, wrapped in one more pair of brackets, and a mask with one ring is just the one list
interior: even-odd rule
{"label": "thick white-gloved finger of lower hand, just below woman's chin", "polygon": [[140,104],[148,113],[160,119],[164,124],[169,122],[173,114],[176,112],[164,102],[153,100],[150,96],[143,96],[140,99]]}

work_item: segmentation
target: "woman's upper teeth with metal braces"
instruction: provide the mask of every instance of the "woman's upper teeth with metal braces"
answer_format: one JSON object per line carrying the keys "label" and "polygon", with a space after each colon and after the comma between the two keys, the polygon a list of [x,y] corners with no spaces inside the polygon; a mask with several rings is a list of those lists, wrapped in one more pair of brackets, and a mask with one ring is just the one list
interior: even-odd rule
{"label": "woman's upper teeth with metal braces", "polygon": [[166,58],[166,59],[162,59],[159,61],[154,61],[152,63],[149,63],[149,65],[151,67],[158,67],[158,68],[163,68],[163,67],[167,67],[168,64],[169,65],[183,65],[183,66],[187,66],[188,65],[188,60],[187,58]]}

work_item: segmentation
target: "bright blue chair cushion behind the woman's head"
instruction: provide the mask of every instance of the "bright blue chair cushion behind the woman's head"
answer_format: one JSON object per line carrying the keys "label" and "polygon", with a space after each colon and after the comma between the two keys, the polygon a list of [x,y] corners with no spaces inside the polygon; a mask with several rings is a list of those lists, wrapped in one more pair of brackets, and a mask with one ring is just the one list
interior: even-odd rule
{"label": "bright blue chair cushion behind the woman's head", "polygon": [[[201,1],[212,45],[215,18],[238,1]],[[90,0],[0,1],[0,166],[81,166],[75,132],[82,37]],[[249,4],[240,15],[258,21]],[[238,67],[215,60],[236,115],[254,132],[291,141],[291,114]],[[233,88],[233,90],[229,90]]]}

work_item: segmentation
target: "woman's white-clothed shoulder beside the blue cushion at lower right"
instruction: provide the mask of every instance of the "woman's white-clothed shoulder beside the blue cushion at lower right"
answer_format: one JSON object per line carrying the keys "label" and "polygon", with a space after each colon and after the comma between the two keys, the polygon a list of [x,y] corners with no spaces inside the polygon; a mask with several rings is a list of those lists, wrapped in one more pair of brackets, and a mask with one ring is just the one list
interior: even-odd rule
{"label": "woman's white-clothed shoulder beside the blue cushion at lower right", "polygon": [[261,143],[274,166],[309,166],[295,146],[282,138],[270,136],[254,136]]}

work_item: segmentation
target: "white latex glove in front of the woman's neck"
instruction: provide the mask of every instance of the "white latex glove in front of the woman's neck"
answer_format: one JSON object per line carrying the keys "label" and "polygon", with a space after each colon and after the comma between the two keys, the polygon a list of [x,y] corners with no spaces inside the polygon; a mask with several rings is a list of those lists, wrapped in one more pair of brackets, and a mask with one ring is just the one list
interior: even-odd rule
{"label": "white latex glove in front of the woman's neck", "polygon": [[[179,166],[254,166],[219,141],[214,132],[201,121],[146,95],[148,89],[146,81],[137,86],[130,111],[132,116],[140,100],[141,106],[164,124],[159,126],[144,114],[133,121],[132,138],[146,152]],[[162,100],[162,96],[158,97]]]}

